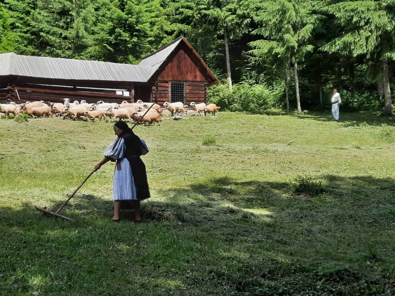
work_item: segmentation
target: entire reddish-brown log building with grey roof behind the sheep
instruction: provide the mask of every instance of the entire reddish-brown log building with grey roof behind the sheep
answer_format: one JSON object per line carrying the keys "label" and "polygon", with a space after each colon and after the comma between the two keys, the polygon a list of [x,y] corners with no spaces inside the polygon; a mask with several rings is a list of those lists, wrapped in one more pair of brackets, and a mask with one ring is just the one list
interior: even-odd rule
{"label": "entire reddish-brown log building with grey roof behind the sheep", "polygon": [[0,102],[51,101],[64,98],[121,103],[206,102],[207,87],[218,79],[198,52],[181,36],[138,65],[0,54]]}

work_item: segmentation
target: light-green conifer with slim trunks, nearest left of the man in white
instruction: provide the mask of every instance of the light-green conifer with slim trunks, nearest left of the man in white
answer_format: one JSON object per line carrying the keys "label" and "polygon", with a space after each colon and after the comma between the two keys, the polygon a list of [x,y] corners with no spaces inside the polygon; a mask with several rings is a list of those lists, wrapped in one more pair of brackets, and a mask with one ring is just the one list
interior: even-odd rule
{"label": "light-green conifer with slim trunks, nearest left of the man in white", "polygon": [[[263,37],[250,42],[253,61],[263,63],[271,55],[282,60],[288,87],[289,68],[292,63],[295,73],[297,109],[301,111],[299,97],[298,64],[304,61],[306,54],[314,49],[312,32],[318,24],[319,15],[312,13],[313,2],[304,0],[273,0],[260,4],[260,10],[254,20],[259,28],[252,33]],[[287,93],[286,89],[286,93]],[[288,95],[287,95],[288,97]],[[287,101],[288,103],[288,101]]]}

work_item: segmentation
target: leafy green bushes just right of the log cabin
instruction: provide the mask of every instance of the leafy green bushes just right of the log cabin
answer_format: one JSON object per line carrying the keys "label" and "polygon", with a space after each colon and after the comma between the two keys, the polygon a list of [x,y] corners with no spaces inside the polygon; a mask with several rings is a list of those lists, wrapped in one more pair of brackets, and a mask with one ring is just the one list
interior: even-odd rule
{"label": "leafy green bushes just right of the log cabin", "polygon": [[226,82],[209,88],[209,102],[229,111],[262,112],[281,104],[284,84],[277,82],[273,87],[243,81],[233,85],[229,91]]}

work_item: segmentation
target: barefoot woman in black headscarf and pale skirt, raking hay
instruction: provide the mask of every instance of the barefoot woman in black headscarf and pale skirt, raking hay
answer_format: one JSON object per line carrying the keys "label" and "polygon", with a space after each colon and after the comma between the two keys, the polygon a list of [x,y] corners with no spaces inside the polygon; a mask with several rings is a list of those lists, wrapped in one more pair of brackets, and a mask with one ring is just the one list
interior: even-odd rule
{"label": "barefoot woman in black headscarf and pale skirt, raking hay", "polygon": [[94,170],[108,161],[117,162],[114,171],[114,217],[119,221],[122,201],[130,200],[134,206],[135,222],[141,222],[140,201],[150,197],[147,173],[140,156],[148,153],[147,145],[130,129],[124,121],[114,125],[115,139],[105,150],[104,158],[95,165]]}

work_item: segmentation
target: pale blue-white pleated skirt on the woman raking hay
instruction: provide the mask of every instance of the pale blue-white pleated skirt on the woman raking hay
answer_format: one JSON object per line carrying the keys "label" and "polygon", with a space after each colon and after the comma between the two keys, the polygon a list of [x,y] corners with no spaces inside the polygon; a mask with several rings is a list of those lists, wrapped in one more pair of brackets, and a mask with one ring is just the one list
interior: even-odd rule
{"label": "pale blue-white pleated skirt on the woman raking hay", "polygon": [[114,200],[137,199],[132,168],[127,158],[120,159],[120,170],[115,166],[113,189]]}

